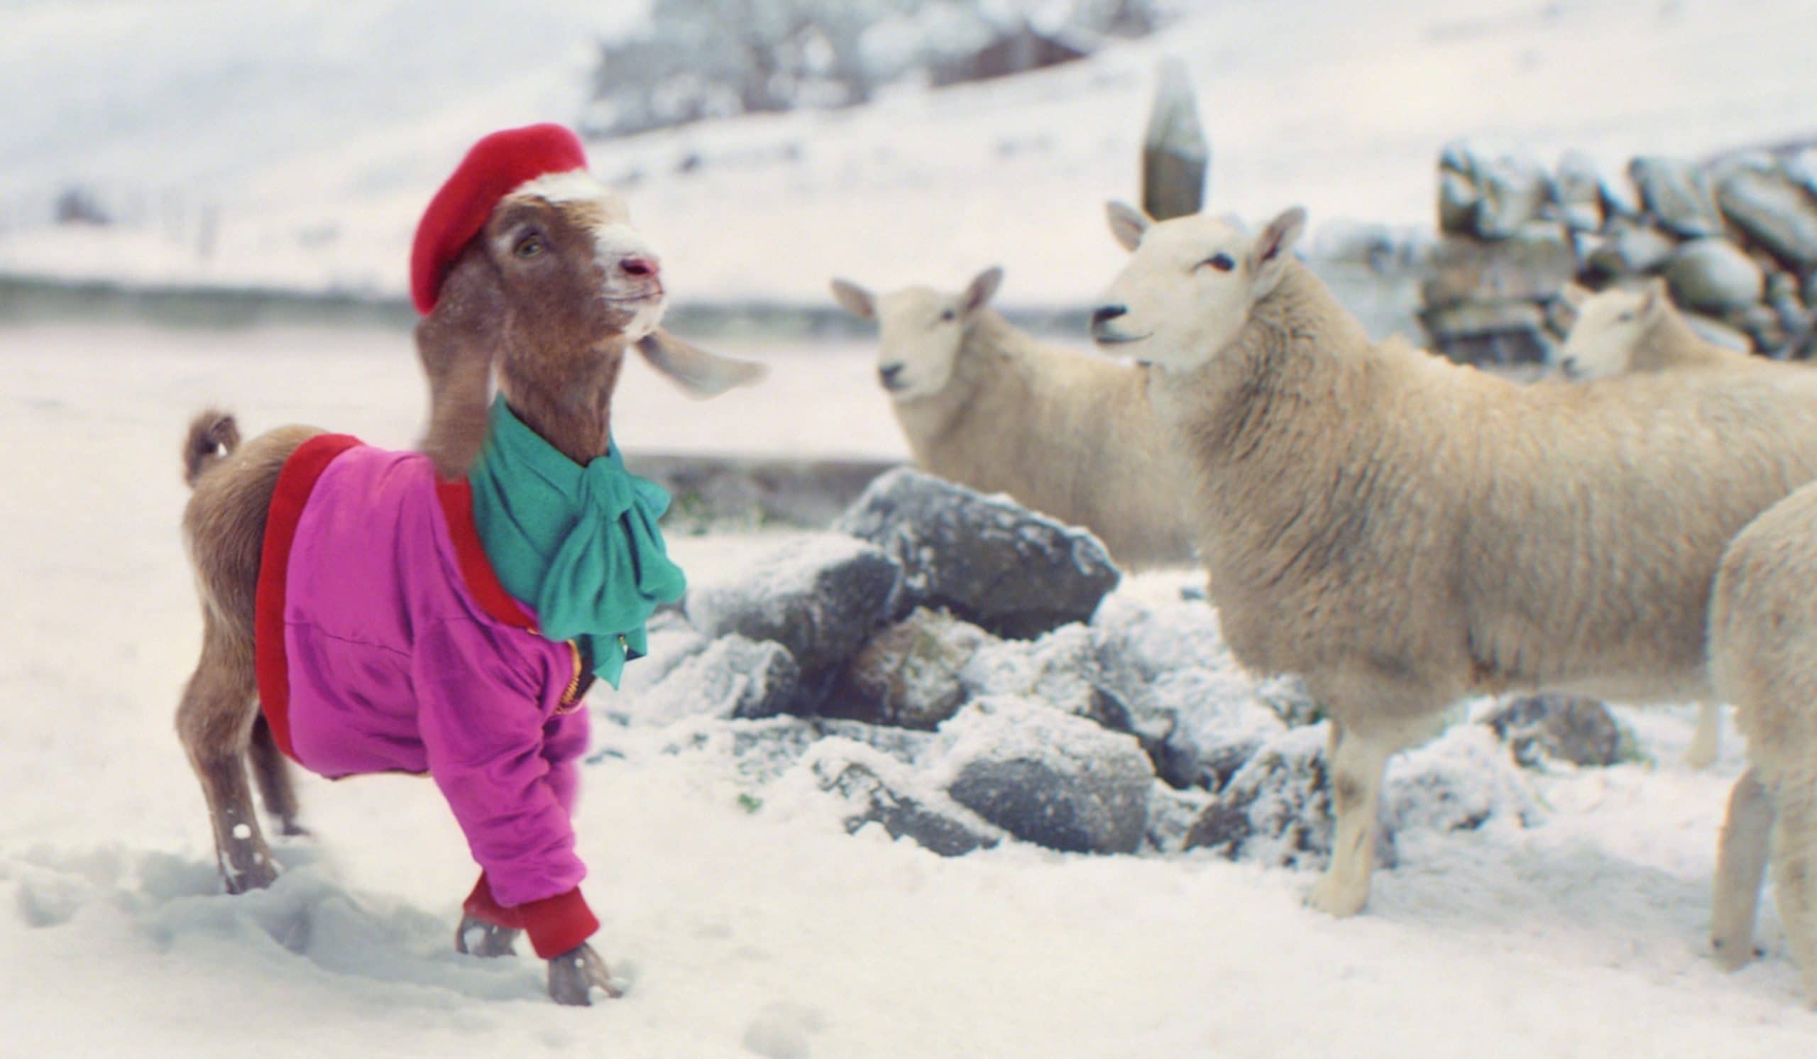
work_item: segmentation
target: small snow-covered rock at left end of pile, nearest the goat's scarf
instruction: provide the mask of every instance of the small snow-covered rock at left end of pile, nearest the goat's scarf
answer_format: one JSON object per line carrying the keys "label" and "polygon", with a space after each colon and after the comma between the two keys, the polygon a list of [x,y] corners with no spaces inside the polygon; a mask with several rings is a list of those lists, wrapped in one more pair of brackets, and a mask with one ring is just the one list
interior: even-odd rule
{"label": "small snow-covered rock at left end of pile, nearest the goat's scarf", "polygon": [[636,716],[654,723],[769,718],[789,710],[799,687],[801,668],[787,647],[723,636],[638,696]]}

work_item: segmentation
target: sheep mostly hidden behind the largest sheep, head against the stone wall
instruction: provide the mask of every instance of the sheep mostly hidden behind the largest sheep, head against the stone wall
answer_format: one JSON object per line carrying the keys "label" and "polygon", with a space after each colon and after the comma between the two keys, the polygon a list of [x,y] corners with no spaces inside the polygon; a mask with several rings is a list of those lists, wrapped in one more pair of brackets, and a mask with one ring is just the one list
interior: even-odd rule
{"label": "sheep mostly hidden behind the largest sheep, head against the stone wall", "polygon": [[[1628,372],[1657,371],[1786,371],[1775,360],[1752,356],[1717,345],[1697,334],[1672,305],[1664,280],[1652,280],[1641,291],[1619,287],[1592,294],[1566,287],[1564,298],[1577,309],[1577,322],[1555,354],[1566,378],[1590,381]],[[1717,703],[1701,703],[1697,734],[1684,752],[1692,768],[1715,763],[1723,739],[1723,714]]]}

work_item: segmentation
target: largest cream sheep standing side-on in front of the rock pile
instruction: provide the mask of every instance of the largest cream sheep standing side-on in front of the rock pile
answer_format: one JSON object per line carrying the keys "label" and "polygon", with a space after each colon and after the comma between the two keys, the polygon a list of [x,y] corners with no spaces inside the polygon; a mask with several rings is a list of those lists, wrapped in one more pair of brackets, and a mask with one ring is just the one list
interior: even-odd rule
{"label": "largest cream sheep standing side-on in front of the rock pile", "polygon": [[1110,222],[1134,256],[1094,336],[1159,369],[1225,638],[1337,723],[1314,906],[1368,901],[1383,768],[1448,703],[1713,696],[1710,583],[1743,525],[1817,478],[1817,376],[1521,385],[1372,343],[1294,260],[1299,209],[1256,236]]}

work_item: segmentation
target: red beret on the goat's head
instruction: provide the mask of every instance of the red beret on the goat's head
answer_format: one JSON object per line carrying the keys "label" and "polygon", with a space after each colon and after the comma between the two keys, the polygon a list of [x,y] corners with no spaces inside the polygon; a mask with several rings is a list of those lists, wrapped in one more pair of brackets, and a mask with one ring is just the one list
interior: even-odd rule
{"label": "red beret on the goat's head", "polygon": [[467,242],[480,234],[498,200],[547,173],[587,167],[587,149],[561,125],[492,133],[467,151],[454,176],[429,200],[411,243],[411,302],[427,316],[442,282]]}

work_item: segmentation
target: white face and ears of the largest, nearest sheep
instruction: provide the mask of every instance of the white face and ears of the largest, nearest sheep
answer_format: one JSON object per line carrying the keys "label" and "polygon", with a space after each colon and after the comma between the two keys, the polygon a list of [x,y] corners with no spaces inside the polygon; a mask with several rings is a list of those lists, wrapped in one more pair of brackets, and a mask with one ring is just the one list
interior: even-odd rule
{"label": "white face and ears of the largest, nearest sheep", "polygon": [[1296,207],[1250,236],[1206,214],[1152,222],[1112,203],[1110,233],[1132,256],[1092,312],[1092,338],[1165,371],[1214,360],[1281,282],[1305,223]]}

